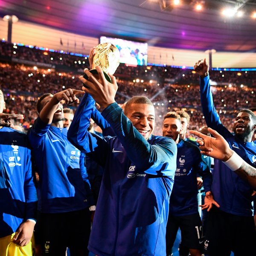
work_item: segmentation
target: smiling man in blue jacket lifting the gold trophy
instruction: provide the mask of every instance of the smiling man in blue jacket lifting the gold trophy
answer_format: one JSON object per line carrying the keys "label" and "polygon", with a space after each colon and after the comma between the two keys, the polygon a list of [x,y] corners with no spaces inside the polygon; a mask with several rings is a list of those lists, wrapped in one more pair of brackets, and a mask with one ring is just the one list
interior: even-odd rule
{"label": "smiling man in blue jacket lifting the gold trophy", "polygon": [[[88,70],[87,88],[68,131],[68,139],[104,166],[89,250],[99,256],[165,255],[166,222],[177,147],[152,135],[154,106],[144,96],[130,99],[124,112],[114,100],[117,84],[106,81],[97,66],[97,80]],[[90,94],[89,94],[90,93]],[[95,101],[116,137],[87,131]]]}

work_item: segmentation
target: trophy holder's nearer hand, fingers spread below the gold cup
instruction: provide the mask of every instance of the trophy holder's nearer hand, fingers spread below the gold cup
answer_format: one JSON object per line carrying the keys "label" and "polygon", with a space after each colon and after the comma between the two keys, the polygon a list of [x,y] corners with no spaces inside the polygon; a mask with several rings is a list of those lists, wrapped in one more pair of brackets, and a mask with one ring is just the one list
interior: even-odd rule
{"label": "trophy holder's nearer hand, fingers spread below the gold cup", "polygon": [[84,79],[83,76],[80,76],[81,82],[87,86],[87,88],[83,86],[82,90],[86,93],[90,93],[102,109],[105,109],[108,105],[115,102],[117,91],[116,78],[108,73],[112,81],[112,83],[110,83],[105,79],[101,67],[96,66],[96,70],[99,74],[99,79],[96,79],[88,69],[84,69],[84,73],[88,76],[88,80]]}

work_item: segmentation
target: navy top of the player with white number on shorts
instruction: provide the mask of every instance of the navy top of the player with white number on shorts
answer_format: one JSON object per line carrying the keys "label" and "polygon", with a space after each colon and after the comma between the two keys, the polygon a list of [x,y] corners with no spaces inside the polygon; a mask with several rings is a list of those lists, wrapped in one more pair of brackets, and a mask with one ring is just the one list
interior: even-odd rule
{"label": "navy top of the player with white number on shorts", "polygon": [[177,169],[170,198],[170,215],[184,216],[198,212],[197,174],[203,178],[205,191],[210,191],[212,174],[202,160],[198,146],[180,140],[177,144]]}

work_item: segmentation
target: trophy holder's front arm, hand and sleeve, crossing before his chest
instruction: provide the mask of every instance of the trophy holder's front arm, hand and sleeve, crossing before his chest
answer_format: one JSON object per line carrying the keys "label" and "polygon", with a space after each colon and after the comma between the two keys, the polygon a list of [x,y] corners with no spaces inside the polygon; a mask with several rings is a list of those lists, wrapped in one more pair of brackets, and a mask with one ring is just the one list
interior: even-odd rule
{"label": "trophy holder's front arm, hand and sleeve, crossing before his chest", "polygon": [[[151,174],[156,174],[164,163],[176,162],[177,147],[175,143],[169,138],[162,138],[157,141],[156,145],[150,145],[134,128],[131,121],[115,102],[114,96],[117,90],[115,77],[109,74],[113,81],[113,84],[111,84],[105,79],[100,67],[96,67],[96,70],[99,73],[99,79],[96,79],[88,70],[85,70],[89,79],[87,81],[83,77],[80,78],[87,85],[87,88],[83,87],[83,90],[90,93],[95,101],[104,108],[102,116],[115,131],[132,163],[138,169],[150,169]],[[175,168],[175,166],[172,166],[171,169]]]}

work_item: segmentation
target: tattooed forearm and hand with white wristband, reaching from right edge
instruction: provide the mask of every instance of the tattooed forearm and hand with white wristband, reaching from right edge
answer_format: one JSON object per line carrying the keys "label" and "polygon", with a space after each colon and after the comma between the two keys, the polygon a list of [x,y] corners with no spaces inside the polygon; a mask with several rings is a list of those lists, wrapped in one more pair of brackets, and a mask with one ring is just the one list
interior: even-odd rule
{"label": "tattooed forearm and hand with white wristband, reaching from right edge", "polygon": [[239,157],[217,131],[211,128],[208,128],[208,131],[214,137],[209,137],[198,131],[189,131],[191,134],[201,138],[197,140],[201,154],[222,160],[239,177],[246,180],[253,189],[256,189],[256,168],[250,166]]}

